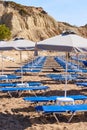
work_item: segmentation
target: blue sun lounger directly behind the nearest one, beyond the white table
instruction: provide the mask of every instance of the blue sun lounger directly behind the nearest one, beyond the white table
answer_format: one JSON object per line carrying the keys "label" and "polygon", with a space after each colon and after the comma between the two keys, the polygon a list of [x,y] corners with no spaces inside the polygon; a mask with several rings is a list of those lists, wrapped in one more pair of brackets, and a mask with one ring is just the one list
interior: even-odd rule
{"label": "blue sun lounger directly behind the nearest one, beyond the white table", "polygon": [[[31,97],[24,97],[23,99],[28,102],[38,103],[38,102],[56,102],[57,98],[60,98],[63,96],[31,96]],[[69,95],[67,96],[69,98],[72,98],[74,100],[87,100],[87,96],[85,95]]]}

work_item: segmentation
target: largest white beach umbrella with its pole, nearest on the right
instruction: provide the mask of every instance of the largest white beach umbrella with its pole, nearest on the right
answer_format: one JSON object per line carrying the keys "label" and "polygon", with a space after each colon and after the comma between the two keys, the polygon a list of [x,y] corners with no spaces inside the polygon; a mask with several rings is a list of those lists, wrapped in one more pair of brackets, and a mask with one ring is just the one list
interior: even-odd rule
{"label": "largest white beach umbrella with its pole, nearest on the right", "polygon": [[65,78],[65,92],[64,92],[64,96],[66,97],[68,53],[86,52],[87,39],[76,35],[72,31],[65,31],[61,35],[57,35],[49,39],[38,42],[36,48],[38,50],[49,50],[49,51],[58,51],[66,53],[66,78]]}

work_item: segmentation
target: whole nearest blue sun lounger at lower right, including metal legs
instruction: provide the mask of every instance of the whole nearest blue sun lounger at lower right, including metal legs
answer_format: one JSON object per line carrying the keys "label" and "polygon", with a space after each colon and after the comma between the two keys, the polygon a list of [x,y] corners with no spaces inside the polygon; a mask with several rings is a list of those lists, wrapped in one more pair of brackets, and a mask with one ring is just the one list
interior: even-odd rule
{"label": "whole nearest blue sun lounger at lower right, including metal legs", "polygon": [[35,110],[37,112],[42,112],[43,114],[53,114],[56,121],[59,122],[58,117],[56,114],[62,114],[62,113],[71,113],[70,118],[68,119],[68,122],[70,122],[73,118],[73,116],[77,112],[87,112],[87,104],[76,104],[76,105],[43,105],[43,106],[36,106]]}

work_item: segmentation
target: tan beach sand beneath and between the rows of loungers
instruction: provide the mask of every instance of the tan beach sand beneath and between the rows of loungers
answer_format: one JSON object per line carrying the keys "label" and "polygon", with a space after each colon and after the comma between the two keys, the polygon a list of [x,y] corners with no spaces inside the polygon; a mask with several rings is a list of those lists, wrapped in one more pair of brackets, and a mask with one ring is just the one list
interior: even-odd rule
{"label": "tan beach sand beneath and between the rows of loungers", "polygon": [[[52,54],[52,55],[51,55]],[[4,56],[9,56],[14,61],[4,59],[4,74],[14,73],[20,66],[20,55],[17,51],[5,51]],[[40,55],[58,55],[54,53],[41,52]],[[22,52],[22,63],[26,63],[28,60],[33,59],[33,52]],[[0,58],[0,68],[2,68],[2,62]],[[56,63],[55,63],[56,65]],[[37,95],[64,95],[64,83],[52,81],[45,75],[52,72],[52,67],[55,67],[53,63],[48,61],[46,66],[49,68],[43,69],[43,72],[32,74],[28,73],[23,76],[24,81],[41,81],[44,85],[50,87],[50,90],[45,93],[36,92]],[[57,66],[56,66],[57,67]],[[59,67],[59,66],[58,66]],[[68,94],[86,94],[86,89],[78,88],[73,83],[67,85]],[[51,115],[46,116],[35,111],[36,104],[25,102],[23,97],[33,96],[33,93],[25,92],[21,97],[9,97],[7,93],[0,93],[0,130],[87,130],[87,114],[76,114],[70,123],[67,123],[69,118],[67,115],[61,115],[57,123],[55,118]],[[86,101],[87,102],[87,101]],[[76,103],[82,103],[77,101]]]}

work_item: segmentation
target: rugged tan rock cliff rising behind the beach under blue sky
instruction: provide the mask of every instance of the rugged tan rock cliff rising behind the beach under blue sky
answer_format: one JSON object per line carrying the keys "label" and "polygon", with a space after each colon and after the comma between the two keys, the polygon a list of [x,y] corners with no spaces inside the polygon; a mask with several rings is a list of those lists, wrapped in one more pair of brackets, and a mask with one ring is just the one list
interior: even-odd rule
{"label": "rugged tan rock cliff rising behind the beach under blue sky", "polygon": [[12,38],[23,37],[40,41],[71,29],[87,37],[87,25],[75,27],[64,22],[57,22],[41,7],[28,7],[14,2],[0,1],[0,24],[11,29]]}

